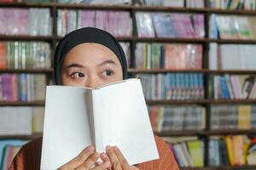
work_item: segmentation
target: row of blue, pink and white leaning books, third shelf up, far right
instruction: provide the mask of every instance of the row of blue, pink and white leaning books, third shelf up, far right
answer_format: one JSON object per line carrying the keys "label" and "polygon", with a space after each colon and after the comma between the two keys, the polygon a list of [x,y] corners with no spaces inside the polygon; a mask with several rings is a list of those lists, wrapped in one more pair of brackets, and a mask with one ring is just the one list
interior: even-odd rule
{"label": "row of blue, pink and white leaning books, third shelf up, far right", "polygon": [[213,99],[256,99],[255,77],[228,74],[212,76],[209,95]]}

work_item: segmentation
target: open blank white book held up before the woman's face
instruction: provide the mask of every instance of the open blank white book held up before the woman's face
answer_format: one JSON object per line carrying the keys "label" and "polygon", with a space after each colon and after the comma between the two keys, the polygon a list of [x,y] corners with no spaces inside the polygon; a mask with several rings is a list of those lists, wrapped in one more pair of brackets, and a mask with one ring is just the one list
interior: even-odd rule
{"label": "open blank white book held up before the woman's face", "polygon": [[98,152],[117,145],[131,165],[159,158],[140,80],[47,87],[41,169],[61,167],[90,144]]}

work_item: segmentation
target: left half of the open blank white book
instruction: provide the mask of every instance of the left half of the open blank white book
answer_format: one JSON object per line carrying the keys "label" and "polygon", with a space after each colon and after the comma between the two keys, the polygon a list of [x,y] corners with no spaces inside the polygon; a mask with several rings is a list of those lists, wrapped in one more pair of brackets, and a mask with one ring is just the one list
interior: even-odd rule
{"label": "left half of the open blank white book", "polygon": [[[87,91],[87,93],[86,93]],[[57,169],[93,144],[90,132],[92,105],[86,88],[48,86],[46,92],[41,169]]]}

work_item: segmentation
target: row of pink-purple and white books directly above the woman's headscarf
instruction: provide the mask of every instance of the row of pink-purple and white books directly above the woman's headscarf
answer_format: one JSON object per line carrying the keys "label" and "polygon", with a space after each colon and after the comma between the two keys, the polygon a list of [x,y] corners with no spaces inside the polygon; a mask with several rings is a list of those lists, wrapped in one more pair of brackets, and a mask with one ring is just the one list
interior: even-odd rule
{"label": "row of pink-purple and white books directly above the woman's headscarf", "polygon": [[59,36],[87,26],[108,31],[115,37],[131,37],[132,34],[131,14],[128,11],[59,9],[57,25]]}

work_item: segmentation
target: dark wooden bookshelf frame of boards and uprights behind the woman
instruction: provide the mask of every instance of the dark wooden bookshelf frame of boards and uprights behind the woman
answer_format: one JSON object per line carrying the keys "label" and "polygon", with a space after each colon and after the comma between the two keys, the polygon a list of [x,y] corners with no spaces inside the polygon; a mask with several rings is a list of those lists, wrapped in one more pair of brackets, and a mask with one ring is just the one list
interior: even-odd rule
{"label": "dark wooden bookshelf frame of boards and uprights behind the woman", "polygon": [[[54,1],[55,2],[55,1]],[[205,1],[207,4],[207,1]],[[156,133],[162,137],[171,136],[200,136],[205,141],[205,164],[206,167],[182,167],[181,169],[201,169],[201,170],[217,170],[217,169],[255,169],[256,166],[221,166],[221,167],[208,167],[208,142],[212,135],[227,135],[227,134],[245,134],[252,135],[256,134],[256,129],[249,130],[211,130],[210,129],[210,105],[233,105],[233,104],[255,104],[255,99],[209,99],[207,87],[209,75],[223,75],[223,74],[234,74],[234,75],[256,75],[256,70],[225,70],[225,71],[212,71],[208,69],[209,59],[209,44],[211,42],[217,42],[218,44],[256,44],[254,40],[233,40],[233,39],[212,39],[209,38],[209,18],[211,14],[235,14],[243,16],[256,16],[256,11],[245,11],[245,10],[231,10],[231,9],[215,9],[215,8],[172,8],[172,7],[141,7],[135,5],[119,5],[119,6],[105,6],[105,5],[84,5],[84,4],[60,4],[60,3],[0,3],[0,8],[49,8],[52,16],[52,35],[51,36],[6,36],[0,35],[0,41],[37,41],[37,42],[48,42],[52,50],[51,58],[53,59],[53,50],[56,42],[61,40],[61,37],[57,35],[57,10],[58,9],[101,9],[110,11],[128,11],[132,18],[132,36],[130,37],[117,37],[120,42],[130,42],[131,49],[131,68],[129,69],[129,75],[133,77],[136,74],[157,74],[157,73],[202,73],[205,80],[205,99],[162,99],[162,100],[147,100],[148,105],[203,105],[207,108],[206,117],[206,129],[205,130],[183,130],[183,131],[166,131]],[[170,12],[179,14],[204,14],[205,15],[205,31],[206,37],[202,38],[160,38],[160,37],[137,37],[137,26],[135,20],[135,14],[137,12]],[[166,69],[136,69],[135,68],[135,50],[137,42],[163,42],[163,43],[195,43],[202,44],[203,46],[203,69],[200,70],[166,70]],[[0,73],[33,73],[33,74],[45,74],[49,79],[52,79],[53,69],[5,69],[0,70]],[[32,102],[3,102],[0,101],[0,106],[44,106],[44,101],[32,101]],[[42,133],[34,133],[32,135],[9,135],[1,136],[0,139],[36,139],[42,136]]]}

